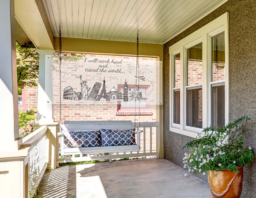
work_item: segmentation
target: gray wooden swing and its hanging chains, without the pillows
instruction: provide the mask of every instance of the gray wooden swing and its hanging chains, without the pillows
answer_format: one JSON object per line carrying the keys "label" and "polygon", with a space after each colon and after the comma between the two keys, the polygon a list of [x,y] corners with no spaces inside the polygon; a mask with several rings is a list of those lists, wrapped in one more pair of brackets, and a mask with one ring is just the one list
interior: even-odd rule
{"label": "gray wooden swing and its hanging chains, without the pillows", "polygon": [[[62,36],[61,36],[61,26],[59,26],[60,34],[59,34],[59,44],[60,44],[60,82],[61,82],[61,64],[62,64]],[[138,33],[137,33],[137,61],[136,61],[136,76],[139,76],[139,62],[138,62]],[[136,78],[136,86],[137,86],[137,78]],[[138,86],[139,86],[139,80],[138,80]],[[60,83],[60,122],[61,122],[61,83]],[[134,135],[136,134],[137,139],[136,143],[133,145],[120,145],[120,146],[92,146],[92,147],[66,147],[65,141],[66,137],[65,134],[69,133],[76,133],[84,135],[85,131],[98,131],[100,129],[109,129],[109,130],[127,130],[132,129],[132,122],[131,121],[64,121],[64,124],[60,124],[60,133],[58,133],[58,136],[60,137],[60,154],[61,155],[83,155],[87,154],[90,156],[90,154],[101,154],[101,153],[109,153],[109,157],[107,159],[110,160],[114,157],[112,153],[115,152],[133,152],[133,151],[139,151],[140,150],[140,133],[143,132],[143,130],[137,130],[134,131]],[[136,98],[135,98],[135,124],[134,128],[139,129],[140,128],[140,101],[139,101],[139,126],[136,127]],[[87,136],[86,136],[87,137]],[[82,137],[83,138],[83,137]],[[134,139],[135,140],[135,139]],[[106,159],[106,157],[105,157]]]}

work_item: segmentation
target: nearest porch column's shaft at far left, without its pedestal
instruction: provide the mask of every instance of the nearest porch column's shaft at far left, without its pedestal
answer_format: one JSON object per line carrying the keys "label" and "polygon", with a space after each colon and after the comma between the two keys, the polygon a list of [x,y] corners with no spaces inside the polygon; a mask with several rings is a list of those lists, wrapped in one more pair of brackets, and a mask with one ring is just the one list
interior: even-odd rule
{"label": "nearest porch column's shaft at far left, without its pedestal", "polygon": [[13,0],[1,1],[0,6],[0,152],[17,150],[18,91]]}

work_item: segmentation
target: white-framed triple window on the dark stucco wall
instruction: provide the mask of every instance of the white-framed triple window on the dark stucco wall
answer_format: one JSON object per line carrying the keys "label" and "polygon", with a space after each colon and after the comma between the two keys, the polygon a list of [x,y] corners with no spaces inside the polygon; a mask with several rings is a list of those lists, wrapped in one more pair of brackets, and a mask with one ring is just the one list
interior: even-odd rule
{"label": "white-framed triple window on the dark stucco wall", "polygon": [[169,48],[170,131],[196,137],[229,121],[228,13]]}

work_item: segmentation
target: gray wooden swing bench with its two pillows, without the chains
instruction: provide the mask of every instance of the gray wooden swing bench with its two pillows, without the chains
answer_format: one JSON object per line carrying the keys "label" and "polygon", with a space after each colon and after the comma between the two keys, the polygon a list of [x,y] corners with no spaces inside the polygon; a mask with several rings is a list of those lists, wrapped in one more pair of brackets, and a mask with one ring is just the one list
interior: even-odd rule
{"label": "gray wooden swing bench with its two pillows, without the chains", "polygon": [[[131,121],[64,121],[64,124],[60,124],[60,133],[58,133],[58,136],[60,136],[60,153],[61,155],[110,153],[111,156],[112,152],[139,151],[140,133],[143,131],[131,130],[132,128]],[[111,131],[110,134],[110,130],[118,130],[118,132],[125,130],[127,137],[134,142],[130,142],[131,145],[111,146],[113,143],[110,144],[106,140],[110,140],[110,138],[108,138],[109,135],[112,134],[112,136],[116,136],[116,134],[113,134],[113,131]],[[104,136],[105,132],[108,134]],[[128,133],[134,133],[132,134],[134,138]],[[137,144],[135,142],[135,134],[137,134]],[[72,145],[69,142],[67,143],[66,136],[71,137]],[[103,137],[106,136],[107,138],[103,139]],[[124,135],[121,134],[121,137],[123,136]],[[115,141],[121,139],[121,137],[115,138]],[[124,139],[128,139],[127,137]],[[91,141],[91,139],[93,139],[93,141]],[[88,141],[91,142],[88,143]],[[101,142],[104,144],[101,144]],[[80,144],[80,146],[78,146],[78,144]],[[118,145],[120,143],[115,142],[115,144]]]}

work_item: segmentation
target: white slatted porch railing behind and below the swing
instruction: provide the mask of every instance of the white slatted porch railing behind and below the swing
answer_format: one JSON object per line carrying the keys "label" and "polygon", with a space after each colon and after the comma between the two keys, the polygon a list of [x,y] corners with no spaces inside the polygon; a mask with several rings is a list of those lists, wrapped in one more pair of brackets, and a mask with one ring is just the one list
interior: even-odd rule
{"label": "white slatted porch railing behind and below the swing", "polygon": [[[134,126],[134,123],[133,123]],[[62,162],[81,162],[87,160],[104,160],[104,159],[119,159],[129,157],[159,157],[159,138],[158,138],[158,122],[141,123],[140,128],[136,123],[137,130],[143,130],[140,134],[140,151],[116,152],[116,153],[98,153],[98,154],[78,154],[78,155],[59,155],[57,166]],[[137,142],[137,137],[136,137]]]}

